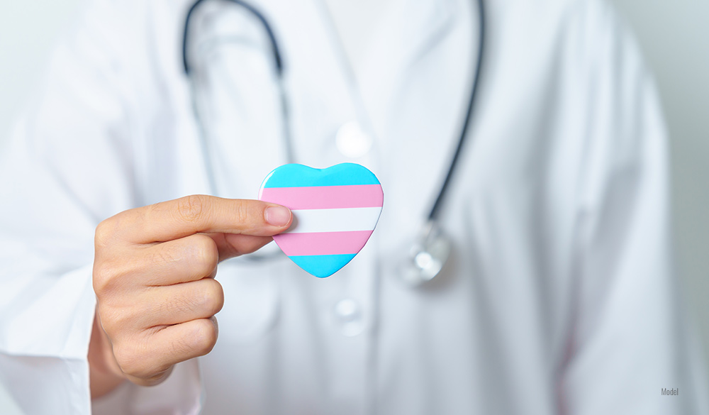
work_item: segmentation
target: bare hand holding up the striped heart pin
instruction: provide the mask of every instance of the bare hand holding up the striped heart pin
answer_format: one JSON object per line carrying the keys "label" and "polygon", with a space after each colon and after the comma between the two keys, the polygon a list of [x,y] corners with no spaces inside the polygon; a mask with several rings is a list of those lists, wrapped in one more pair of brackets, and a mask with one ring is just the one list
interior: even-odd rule
{"label": "bare hand holding up the striped heart pin", "polygon": [[[108,341],[99,341],[103,333],[92,336],[92,369],[113,367],[114,382],[152,385],[176,363],[209,353],[217,339],[214,314],[224,302],[213,279],[218,262],[261,248],[291,220],[291,211],[276,204],[189,196],[99,223],[94,330],[103,328]],[[112,353],[92,354],[100,343]],[[92,355],[115,360],[94,364]]]}

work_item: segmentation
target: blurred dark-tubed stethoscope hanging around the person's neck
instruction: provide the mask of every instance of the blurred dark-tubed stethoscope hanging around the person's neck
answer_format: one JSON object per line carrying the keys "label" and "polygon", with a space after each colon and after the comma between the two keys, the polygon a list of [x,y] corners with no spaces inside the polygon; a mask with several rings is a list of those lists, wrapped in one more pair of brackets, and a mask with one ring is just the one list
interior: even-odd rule
{"label": "blurred dark-tubed stethoscope hanging around the person's neck", "polygon": [[[199,7],[200,4],[202,4],[205,0],[197,0],[192,4],[192,6],[189,8],[189,11],[187,11],[187,15],[184,21],[184,32],[183,32],[183,37],[182,37],[182,63],[184,65],[184,72],[186,76],[189,78],[190,77],[190,70],[191,67],[189,65],[189,60],[187,59],[187,43],[188,43],[188,31],[189,31],[189,23],[192,18],[192,13]],[[284,65],[283,65],[283,60],[281,58],[281,51],[279,49],[278,42],[276,40],[276,36],[274,35],[274,32],[271,28],[271,25],[268,23],[264,15],[255,9],[254,6],[251,4],[248,4],[245,1],[241,0],[225,0],[225,1],[230,1],[233,4],[236,4],[238,6],[241,6],[243,9],[251,13],[252,16],[254,16],[263,26],[264,31],[266,31],[266,34],[268,35],[269,43],[271,45],[272,53],[273,53],[273,61],[274,61],[274,68],[277,76],[277,80],[279,82],[279,85],[281,85],[280,92],[281,92],[281,112],[283,116],[283,123],[284,123],[284,142],[286,145],[286,154],[289,157],[289,161],[293,160],[292,158],[292,150],[291,150],[291,138],[289,136],[290,133],[290,117],[289,117],[289,111],[287,111],[287,99],[286,99],[286,94],[284,92],[284,88],[282,87],[283,85],[283,73],[284,73]],[[476,4],[478,6],[478,17],[479,17],[479,45],[478,45],[478,53],[477,53],[477,61],[476,61],[476,67],[475,67],[475,73],[474,73],[474,78],[471,86],[471,92],[470,92],[470,98],[468,101],[468,106],[467,106],[467,113],[465,116],[465,119],[463,121],[463,126],[460,132],[460,138],[458,139],[458,145],[455,149],[455,153],[453,154],[453,158],[450,162],[450,167],[448,167],[448,172],[445,177],[445,180],[443,181],[443,184],[441,185],[441,189],[438,192],[438,196],[435,199],[435,202],[433,203],[433,206],[431,207],[431,210],[428,214],[428,218],[426,218],[425,223],[423,226],[421,226],[420,231],[418,232],[418,235],[416,236],[414,243],[411,245],[411,248],[408,250],[408,255],[406,255],[406,258],[404,258],[401,262],[401,266],[399,267],[399,277],[401,277],[401,280],[403,282],[406,282],[407,284],[410,284],[412,286],[418,286],[420,284],[423,284],[423,282],[427,282],[432,280],[436,275],[440,273],[442,270],[443,266],[447,262],[448,258],[450,257],[450,253],[452,251],[452,243],[450,238],[442,231],[440,228],[440,225],[438,223],[438,217],[440,214],[441,206],[443,203],[443,200],[445,198],[445,194],[448,190],[448,187],[450,186],[450,180],[453,176],[453,172],[455,170],[455,167],[457,165],[461,150],[463,148],[465,138],[468,133],[468,128],[470,126],[470,121],[472,118],[473,114],[473,109],[474,109],[474,104],[476,100],[476,95],[478,91],[478,84],[479,84],[479,78],[480,78],[480,71],[481,71],[481,66],[482,66],[482,61],[483,61],[483,49],[485,45],[485,15],[484,15],[484,4],[483,0],[477,0]]]}

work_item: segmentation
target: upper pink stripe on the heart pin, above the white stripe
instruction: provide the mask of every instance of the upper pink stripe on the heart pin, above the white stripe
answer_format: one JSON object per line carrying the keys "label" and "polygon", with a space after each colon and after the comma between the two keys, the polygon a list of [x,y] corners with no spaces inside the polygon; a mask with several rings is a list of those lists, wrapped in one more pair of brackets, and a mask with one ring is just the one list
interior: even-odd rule
{"label": "upper pink stripe on the heart pin, above the white stripe", "polygon": [[381,207],[384,193],[379,184],[352,186],[266,187],[259,199],[289,209],[346,209]]}

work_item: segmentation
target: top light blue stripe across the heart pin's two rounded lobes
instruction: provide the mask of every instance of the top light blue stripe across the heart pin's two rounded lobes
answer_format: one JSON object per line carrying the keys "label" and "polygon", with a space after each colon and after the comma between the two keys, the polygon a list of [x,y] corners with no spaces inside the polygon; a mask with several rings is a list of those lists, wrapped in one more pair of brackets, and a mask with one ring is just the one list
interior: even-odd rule
{"label": "top light blue stripe across the heart pin's two rounded lobes", "polygon": [[362,165],[341,163],[327,169],[304,165],[282,165],[269,173],[262,187],[350,186],[379,184],[374,173]]}

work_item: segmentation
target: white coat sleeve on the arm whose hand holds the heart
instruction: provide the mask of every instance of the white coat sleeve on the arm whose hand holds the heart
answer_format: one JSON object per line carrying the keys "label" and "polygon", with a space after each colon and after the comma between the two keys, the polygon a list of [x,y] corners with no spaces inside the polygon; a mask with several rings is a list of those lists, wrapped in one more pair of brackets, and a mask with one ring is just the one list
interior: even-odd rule
{"label": "white coat sleeve on the arm whose hand holds the heart", "polygon": [[[91,413],[94,229],[141,203],[135,142],[150,116],[139,84],[150,72],[143,3],[91,4],[0,153],[0,386],[27,415]],[[142,400],[123,413],[196,413],[197,372],[140,388]]]}

